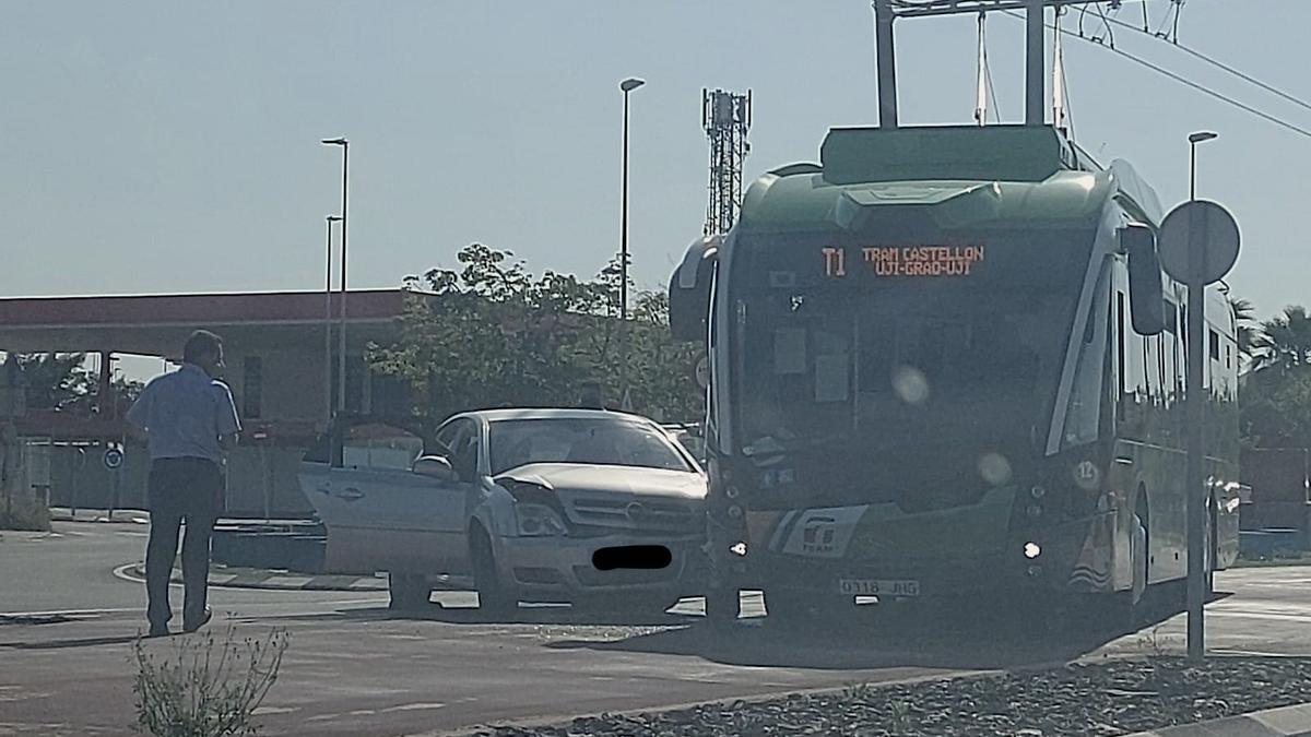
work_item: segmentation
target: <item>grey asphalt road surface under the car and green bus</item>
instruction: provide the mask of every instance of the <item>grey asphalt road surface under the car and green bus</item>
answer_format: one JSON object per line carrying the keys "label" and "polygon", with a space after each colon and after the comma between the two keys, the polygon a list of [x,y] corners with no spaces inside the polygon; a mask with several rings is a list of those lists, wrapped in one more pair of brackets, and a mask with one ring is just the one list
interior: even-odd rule
{"label": "grey asphalt road surface under the car and green bus", "polygon": [[[143,525],[56,525],[0,534],[0,736],[127,734],[139,584],[113,569],[139,560]],[[1311,653],[1311,568],[1223,573],[1232,595],[1207,607],[1213,652]],[[566,607],[489,622],[472,594],[438,593],[430,611],[393,616],[378,593],[211,590],[220,633],[286,627],[291,647],[261,711],[267,734],[421,734],[551,721],[1076,657],[1177,650],[1183,618],[1113,641],[1042,636],[977,612],[950,623],[785,628],[755,616],[730,633],[700,605],[627,620]],[[440,606],[438,606],[440,605]],[[746,595],[749,615],[763,614]],[[34,612],[45,618],[16,618]],[[64,612],[58,615],[58,612]],[[164,654],[180,636],[149,643]]]}

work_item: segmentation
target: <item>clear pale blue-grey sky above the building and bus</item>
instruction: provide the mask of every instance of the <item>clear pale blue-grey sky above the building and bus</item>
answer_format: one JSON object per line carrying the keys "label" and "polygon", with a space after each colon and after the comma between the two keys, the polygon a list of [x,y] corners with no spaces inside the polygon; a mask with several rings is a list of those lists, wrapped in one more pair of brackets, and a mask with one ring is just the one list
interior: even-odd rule
{"label": "clear pale blue-grey sky above the building and bus", "polygon": [[[1148,0],[1154,21],[1167,0]],[[1141,20],[1141,4],[1120,17]],[[1067,20],[1074,28],[1075,18]],[[1086,29],[1095,30],[1093,22]],[[1306,0],[1192,0],[1181,39],[1299,97]],[[1023,25],[990,21],[1004,121]],[[974,18],[898,25],[903,123],[969,122]],[[747,176],[876,122],[867,0],[10,0],[0,21],[0,295],[321,289],[324,216],[351,140],[353,287],[451,265],[465,244],[595,273],[617,250],[620,79],[633,93],[635,274],[667,279],[700,233],[703,87],[754,90]],[[1160,41],[1117,45],[1311,127],[1311,111]],[[1070,39],[1075,135],[1167,205],[1201,193],[1243,227],[1230,283],[1261,313],[1311,303],[1311,139]]]}

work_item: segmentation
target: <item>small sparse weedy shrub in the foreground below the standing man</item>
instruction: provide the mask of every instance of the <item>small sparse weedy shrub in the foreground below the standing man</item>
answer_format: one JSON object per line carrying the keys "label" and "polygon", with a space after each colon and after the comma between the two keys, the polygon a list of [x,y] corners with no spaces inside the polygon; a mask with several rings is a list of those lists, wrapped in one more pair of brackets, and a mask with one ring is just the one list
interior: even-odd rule
{"label": "small sparse weedy shrub in the foreground below the standing man", "polygon": [[166,650],[136,640],[136,728],[155,737],[245,737],[258,732],[256,709],[278,681],[290,643],[286,629],[236,639],[228,629],[173,639]]}

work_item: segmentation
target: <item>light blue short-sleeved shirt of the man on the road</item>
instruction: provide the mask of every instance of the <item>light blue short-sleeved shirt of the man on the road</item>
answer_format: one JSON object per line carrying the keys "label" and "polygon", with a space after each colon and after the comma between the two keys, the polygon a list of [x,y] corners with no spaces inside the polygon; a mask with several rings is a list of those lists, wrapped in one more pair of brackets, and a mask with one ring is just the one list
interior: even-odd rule
{"label": "light blue short-sleeved shirt of the man on the road", "polygon": [[232,391],[191,363],[146,384],[126,420],[146,430],[151,460],[203,458],[222,464],[219,435],[241,430]]}

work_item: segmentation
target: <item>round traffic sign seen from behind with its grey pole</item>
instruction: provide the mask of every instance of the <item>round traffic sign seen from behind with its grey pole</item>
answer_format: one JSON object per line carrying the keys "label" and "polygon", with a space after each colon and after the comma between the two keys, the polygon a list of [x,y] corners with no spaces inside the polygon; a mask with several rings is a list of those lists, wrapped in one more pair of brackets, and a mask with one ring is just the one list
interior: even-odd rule
{"label": "round traffic sign seen from behind with its grey pole", "polygon": [[1209,201],[1190,201],[1165,216],[1160,227],[1160,260],[1165,271],[1188,286],[1184,395],[1188,417],[1188,466],[1184,473],[1188,518],[1188,657],[1206,656],[1202,607],[1206,603],[1206,286],[1221,281],[1238,261],[1238,223]]}

